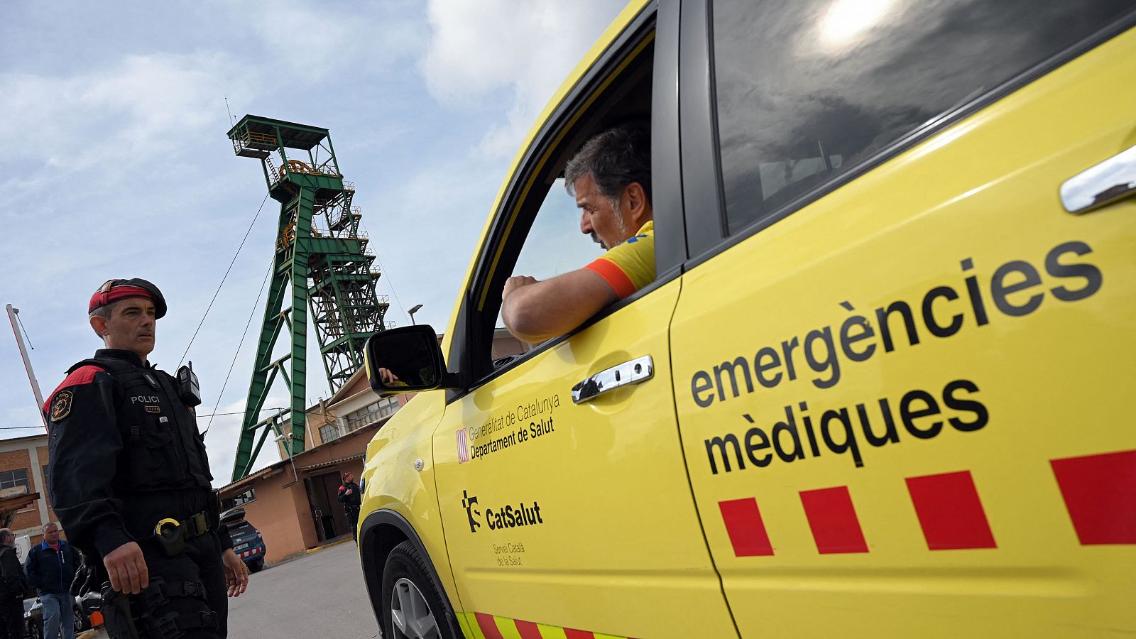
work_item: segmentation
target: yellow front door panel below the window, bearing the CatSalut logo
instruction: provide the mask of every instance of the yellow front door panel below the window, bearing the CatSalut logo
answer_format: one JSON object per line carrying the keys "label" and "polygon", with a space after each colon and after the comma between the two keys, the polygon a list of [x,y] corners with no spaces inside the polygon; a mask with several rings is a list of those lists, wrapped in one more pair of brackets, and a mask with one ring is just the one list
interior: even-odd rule
{"label": "yellow front door panel below the window, bearing the CatSalut logo", "polygon": [[[446,407],[438,501],[478,632],[734,633],[675,422],[667,322],[678,290],[663,284]],[[573,403],[577,382],[643,356],[651,379]]]}

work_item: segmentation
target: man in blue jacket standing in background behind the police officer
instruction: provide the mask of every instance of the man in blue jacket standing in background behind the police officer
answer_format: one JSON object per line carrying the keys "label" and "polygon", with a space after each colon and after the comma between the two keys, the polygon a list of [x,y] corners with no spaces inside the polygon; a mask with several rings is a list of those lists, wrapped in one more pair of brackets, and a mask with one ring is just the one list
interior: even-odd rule
{"label": "man in blue jacket standing in background behind the police officer", "polygon": [[74,639],[70,582],[78,569],[78,553],[59,539],[59,525],[43,526],[43,541],[32,546],[24,562],[27,581],[40,592],[43,603],[43,639]]}

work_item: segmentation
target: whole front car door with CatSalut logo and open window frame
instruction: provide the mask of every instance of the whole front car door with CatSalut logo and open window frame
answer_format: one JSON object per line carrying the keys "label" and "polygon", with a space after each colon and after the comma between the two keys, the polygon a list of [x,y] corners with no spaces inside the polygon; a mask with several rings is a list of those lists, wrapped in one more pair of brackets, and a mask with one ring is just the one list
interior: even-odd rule
{"label": "whole front car door with CatSalut logo and open window frame", "polygon": [[[459,617],[473,637],[735,634],[675,420],[668,330],[677,272],[534,350],[491,355],[488,346],[500,334],[504,277],[543,279],[600,255],[579,234],[557,176],[592,134],[651,114],[651,69],[663,47],[654,14],[621,19],[613,33],[623,34],[521,158],[453,329],[450,367],[473,379],[450,398],[434,464]],[[680,233],[678,206],[657,201],[655,210],[660,233],[674,238],[676,224]],[[534,271],[542,265],[549,271]],[[635,383],[574,403],[574,387],[616,370]]]}

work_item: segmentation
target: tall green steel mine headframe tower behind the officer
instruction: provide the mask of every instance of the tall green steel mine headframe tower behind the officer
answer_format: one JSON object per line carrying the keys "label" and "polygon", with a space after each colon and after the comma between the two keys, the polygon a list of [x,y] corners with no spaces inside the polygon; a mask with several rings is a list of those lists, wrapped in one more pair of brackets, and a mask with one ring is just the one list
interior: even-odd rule
{"label": "tall green steel mine headframe tower behind the officer", "polygon": [[[289,455],[304,449],[309,308],[335,392],[362,367],[364,345],[383,330],[387,300],[375,293],[379,274],[359,231],[362,214],[351,204],[354,184],[343,181],[327,130],[247,115],[228,138],[237,156],[260,159],[268,194],[281,202],[272,285],[233,465],[236,481],[248,476],[269,432],[284,438]],[[282,332],[291,349],[274,356]],[[277,374],[290,405],[261,416]]]}

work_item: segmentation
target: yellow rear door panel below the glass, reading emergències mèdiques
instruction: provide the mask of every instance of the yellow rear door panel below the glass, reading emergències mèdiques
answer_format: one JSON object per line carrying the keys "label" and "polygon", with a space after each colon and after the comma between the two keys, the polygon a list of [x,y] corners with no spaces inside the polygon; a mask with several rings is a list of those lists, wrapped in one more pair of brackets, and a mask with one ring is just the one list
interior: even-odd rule
{"label": "yellow rear door panel below the glass, reading emerg\u00e8ncies m\u00e8diques", "polygon": [[[1059,194],[1136,146],[1133,77],[1127,32],[684,275],[683,447],[743,636],[1136,631],[1136,200]],[[755,171],[767,204],[858,161],[819,140]]]}

